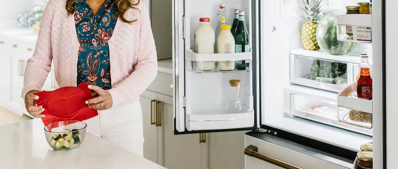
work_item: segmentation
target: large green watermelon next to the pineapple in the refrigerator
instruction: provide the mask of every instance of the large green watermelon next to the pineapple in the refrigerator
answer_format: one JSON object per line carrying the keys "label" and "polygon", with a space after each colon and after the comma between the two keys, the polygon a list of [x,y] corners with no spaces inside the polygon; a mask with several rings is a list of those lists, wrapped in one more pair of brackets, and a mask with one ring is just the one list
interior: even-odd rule
{"label": "large green watermelon next to the pineapple in the refrigerator", "polygon": [[357,46],[354,42],[343,42],[337,40],[336,15],[341,12],[330,12],[318,23],[316,28],[316,40],[321,49],[332,55],[344,55],[350,53]]}

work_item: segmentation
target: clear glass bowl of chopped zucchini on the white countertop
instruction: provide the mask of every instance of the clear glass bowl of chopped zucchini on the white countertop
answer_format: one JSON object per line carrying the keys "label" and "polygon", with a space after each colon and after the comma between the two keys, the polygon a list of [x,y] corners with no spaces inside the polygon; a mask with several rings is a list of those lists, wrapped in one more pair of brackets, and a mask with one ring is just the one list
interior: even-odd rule
{"label": "clear glass bowl of chopped zucchini on the white countertop", "polygon": [[44,128],[49,145],[60,151],[78,147],[84,140],[87,124],[75,120],[51,123]]}

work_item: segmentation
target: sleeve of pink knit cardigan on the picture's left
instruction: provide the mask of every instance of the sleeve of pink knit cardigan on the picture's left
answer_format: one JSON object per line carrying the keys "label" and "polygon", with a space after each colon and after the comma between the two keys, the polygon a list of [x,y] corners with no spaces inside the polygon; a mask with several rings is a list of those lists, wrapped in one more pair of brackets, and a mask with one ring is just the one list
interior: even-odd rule
{"label": "sleeve of pink knit cardigan on the picture's left", "polygon": [[33,56],[27,60],[21,93],[23,99],[25,99],[25,95],[30,90],[41,90],[51,71],[51,61],[53,59],[51,28],[55,12],[55,5],[53,3],[55,1],[50,0],[44,10],[35,51]]}

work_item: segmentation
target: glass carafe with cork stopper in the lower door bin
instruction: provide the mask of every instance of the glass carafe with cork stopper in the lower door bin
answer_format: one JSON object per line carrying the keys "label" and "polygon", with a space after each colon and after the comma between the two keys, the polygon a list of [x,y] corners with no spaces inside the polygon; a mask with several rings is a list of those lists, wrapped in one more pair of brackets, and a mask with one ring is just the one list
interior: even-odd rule
{"label": "glass carafe with cork stopper in the lower door bin", "polygon": [[242,105],[239,99],[240,80],[230,80],[230,102],[228,103],[228,114],[241,113]]}

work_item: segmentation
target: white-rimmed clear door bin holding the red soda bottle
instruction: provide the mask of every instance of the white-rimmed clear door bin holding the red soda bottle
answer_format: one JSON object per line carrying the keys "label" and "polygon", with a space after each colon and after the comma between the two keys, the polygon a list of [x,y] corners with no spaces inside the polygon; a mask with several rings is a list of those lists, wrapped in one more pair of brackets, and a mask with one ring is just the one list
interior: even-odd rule
{"label": "white-rimmed clear door bin holding the red soda bottle", "polygon": [[354,126],[372,128],[373,100],[357,98],[356,90],[357,83],[354,82],[338,94],[338,119]]}

